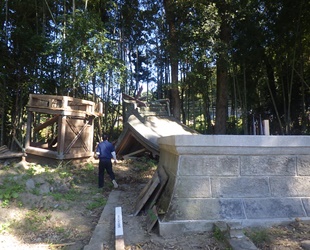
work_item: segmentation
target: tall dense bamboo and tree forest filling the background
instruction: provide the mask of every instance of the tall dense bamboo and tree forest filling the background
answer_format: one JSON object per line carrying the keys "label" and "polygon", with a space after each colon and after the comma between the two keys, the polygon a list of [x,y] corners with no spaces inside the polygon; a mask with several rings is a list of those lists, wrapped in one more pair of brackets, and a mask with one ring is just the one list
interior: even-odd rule
{"label": "tall dense bamboo and tree forest filling the background", "polygon": [[[2,0],[0,145],[24,142],[29,94],[168,99],[202,134],[310,134],[310,1]],[[97,130],[96,130],[97,131]]]}

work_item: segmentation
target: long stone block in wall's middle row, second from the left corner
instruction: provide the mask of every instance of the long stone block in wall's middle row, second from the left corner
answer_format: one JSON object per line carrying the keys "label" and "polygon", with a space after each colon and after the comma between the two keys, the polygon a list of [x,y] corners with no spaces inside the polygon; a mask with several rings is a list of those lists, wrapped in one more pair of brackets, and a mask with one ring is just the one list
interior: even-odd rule
{"label": "long stone block in wall's middle row, second from the left corner", "polygon": [[214,198],[255,198],[270,196],[267,177],[211,178]]}

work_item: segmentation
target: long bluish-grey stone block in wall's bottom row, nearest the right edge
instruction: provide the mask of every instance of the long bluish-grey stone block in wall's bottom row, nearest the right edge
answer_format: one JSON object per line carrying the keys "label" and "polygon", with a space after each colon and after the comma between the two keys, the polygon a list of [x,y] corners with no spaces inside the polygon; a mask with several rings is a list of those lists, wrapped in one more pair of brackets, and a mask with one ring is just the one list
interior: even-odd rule
{"label": "long bluish-grey stone block in wall's bottom row, nearest the right edge", "polygon": [[247,219],[304,217],[300,199],[246,199],[243,201]]}

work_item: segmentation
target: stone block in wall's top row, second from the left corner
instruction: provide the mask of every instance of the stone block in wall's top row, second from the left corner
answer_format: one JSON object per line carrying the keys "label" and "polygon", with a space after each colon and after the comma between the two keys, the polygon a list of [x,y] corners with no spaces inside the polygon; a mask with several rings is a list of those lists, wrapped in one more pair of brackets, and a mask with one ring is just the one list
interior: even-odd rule
{"label": "stone block in wall's top row, second from the left corner", "polygon": [[296,175],[295,156],[241,156],[241,175]]}

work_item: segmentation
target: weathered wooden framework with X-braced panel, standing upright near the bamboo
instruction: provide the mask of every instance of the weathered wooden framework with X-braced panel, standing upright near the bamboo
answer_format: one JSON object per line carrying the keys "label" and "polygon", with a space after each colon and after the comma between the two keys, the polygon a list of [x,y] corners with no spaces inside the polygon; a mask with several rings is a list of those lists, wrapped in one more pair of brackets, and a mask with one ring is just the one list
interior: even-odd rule
{"label": "weathered wooden framework with X-braced panel, standing upright near the bamboo", "polygon": [[30,94],[27,105],[27,155],[57,160],[93,153],[94,119],[102,105],[69,96]]}

